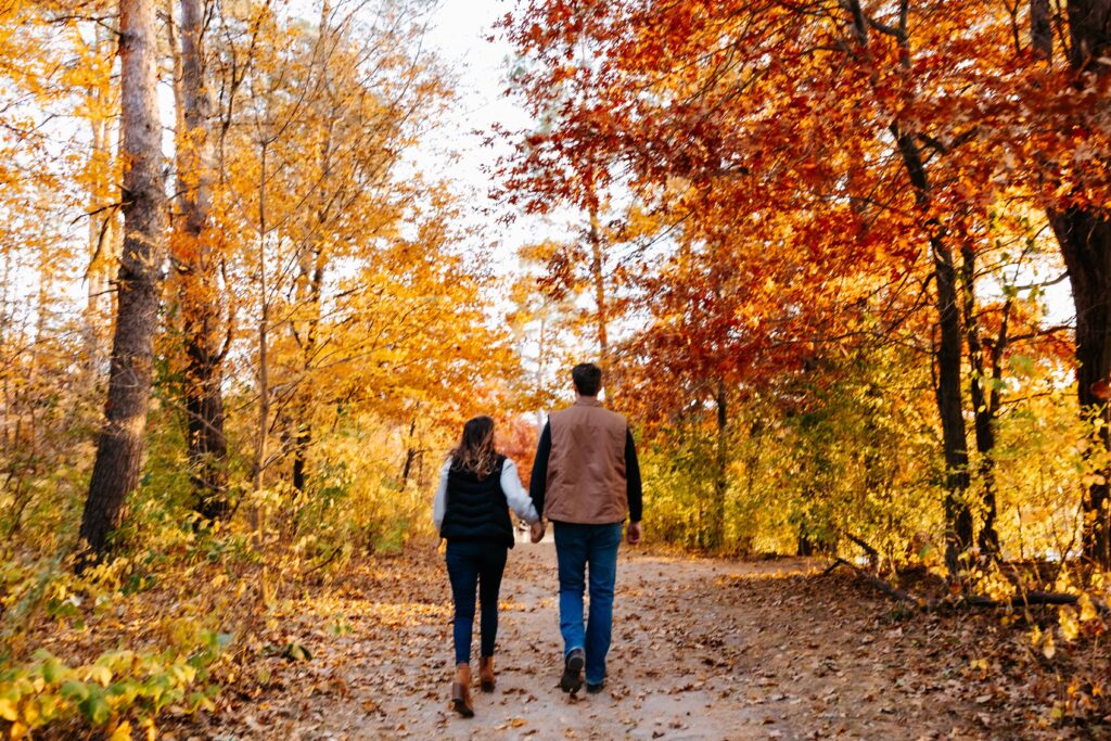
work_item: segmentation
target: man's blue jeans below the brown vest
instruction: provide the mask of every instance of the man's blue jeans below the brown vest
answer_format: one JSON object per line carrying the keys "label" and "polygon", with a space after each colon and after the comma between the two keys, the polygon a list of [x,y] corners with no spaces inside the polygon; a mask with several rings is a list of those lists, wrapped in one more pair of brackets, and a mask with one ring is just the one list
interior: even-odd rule
{"label": "man's blue jeans below the brown vest", "polygon": [[[556,558],[559,561],[559,629],[563,655],[574,649],[587,652],[587,683],[605,679],[605,654],[613,628],[613,585],[618,575],[621,524],[554,522]],[[590,617],[582,624],[582,594],[589,567]]]}

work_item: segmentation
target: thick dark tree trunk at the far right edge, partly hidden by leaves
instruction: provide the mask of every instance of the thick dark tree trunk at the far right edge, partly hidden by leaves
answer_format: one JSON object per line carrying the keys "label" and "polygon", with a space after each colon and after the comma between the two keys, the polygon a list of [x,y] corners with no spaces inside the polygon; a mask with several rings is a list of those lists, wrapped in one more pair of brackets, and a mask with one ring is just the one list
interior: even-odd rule
{"label": "thick dark tree trunk at the far right edge, partly hidden by leaves", "polygon": [[[1047,0],[1032,0],[1032,42],[1049,58],[1052,47],[1045,43]],[[1068,60],[1073,70],[1104,76],[1109,69],[1098,61],[1111,47],[1111,0],[1069,0],[1070,43]],[[1050,41],[1052,37],[1050,37]],[[1081,78],[1082,80],[1082,78]],[[1082,82],[1078,82],[1081,84]],[[1101,170],[1105,170],[1105,163]],[[1104,177],[1102,172],[1099,177]],[[1101,423],[1094,433],[1097,443],[1089,454],[1098,458],[1111,447],[1108,424],[1109,383],[1111,383],[1111,214],[1097,206],[1048,209],[1049,222],[1061,246],[1061,254],[1072,287],[1077,310],[1077,395],[1087,421]],[[1083,551],[1095,563],[1111,567],[1111,517],[1108,511],[1108,477],[1092,483],[1083,504]]]}

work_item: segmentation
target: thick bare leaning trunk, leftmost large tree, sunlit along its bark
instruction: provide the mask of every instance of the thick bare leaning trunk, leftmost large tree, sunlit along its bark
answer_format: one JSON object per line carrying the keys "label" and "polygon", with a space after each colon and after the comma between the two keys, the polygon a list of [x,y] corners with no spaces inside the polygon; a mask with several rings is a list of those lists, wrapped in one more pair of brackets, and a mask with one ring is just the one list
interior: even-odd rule
{"label": "thick bare leaning trunk, leftmost large tree, sunlit along its bark", "polygon": [[120,150],[128,162],[121,198],[124,237],[106,420],[81,518],[87,549],[82,565],[107,553],[109,535],[122,521],[127,498],[139,483],[147,430],[166,248],[154,33],[153,0],[120,0]]}

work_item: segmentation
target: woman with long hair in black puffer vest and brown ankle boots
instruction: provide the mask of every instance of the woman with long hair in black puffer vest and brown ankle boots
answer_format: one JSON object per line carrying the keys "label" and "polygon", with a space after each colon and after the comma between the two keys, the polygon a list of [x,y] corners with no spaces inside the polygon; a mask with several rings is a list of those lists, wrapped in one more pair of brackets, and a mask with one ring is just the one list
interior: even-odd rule
{"label": "woman with long hair in black puffer vest and brown ankle boots", "polygon": [[513,547],[510,507],[529,524],[539,519],[513,461],[499,455],[493,448],[493,420],[476,417],[463,425],[462,439],[440,470],[440,485],[432,504],[432,519],[440,537],[448,541],[448,577],[456,603],[451,705],[463,718],[474,715],[470,661],[476,587],[482,611],[479,683],[483,692],[493,691],[498,592],[506,557]]}

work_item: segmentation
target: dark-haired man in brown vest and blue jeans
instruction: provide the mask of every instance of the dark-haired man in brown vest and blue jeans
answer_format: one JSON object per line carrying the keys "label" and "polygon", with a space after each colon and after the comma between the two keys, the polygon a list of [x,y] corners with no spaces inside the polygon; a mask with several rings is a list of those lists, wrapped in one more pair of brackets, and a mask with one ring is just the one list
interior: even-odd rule
{"label": "dark-haired man in brown vest and blue jeans", "polygon": [[[560,688],[578,692],[587,670],[587,692],[605,683],[605,654],[613,623],[621,528],[640,542],[641,487],[637,450],[629,424],[598,401],[602,370],[593,363],[575,366],[571,380],[574,405],[553,412],[540,434],[529,494],[537,513],[556,530],[559,561],[559,627],[563,634],[563,677]],[[532,525],[532,542],[544,534],[543,521]],[[590,578],[590,617],[582,621],[582,595]]]}

